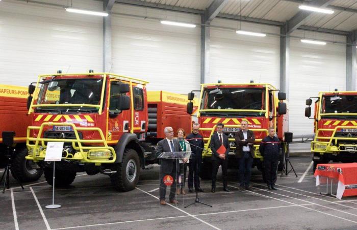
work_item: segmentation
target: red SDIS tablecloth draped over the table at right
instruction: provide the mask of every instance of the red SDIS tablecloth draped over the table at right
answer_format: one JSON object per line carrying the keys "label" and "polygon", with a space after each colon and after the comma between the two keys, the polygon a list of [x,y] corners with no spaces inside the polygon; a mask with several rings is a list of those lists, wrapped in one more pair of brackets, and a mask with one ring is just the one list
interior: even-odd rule
{"label": "red SDIS tablecloth draped over the table at right", "polygon": [[321,176],[338,179],[337,195],[340,193],[340,199],[342,196],[357,196],[357,163],[318,164],[314,176],[317,180]]}

